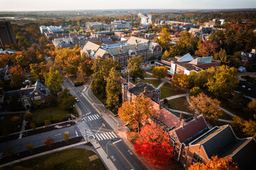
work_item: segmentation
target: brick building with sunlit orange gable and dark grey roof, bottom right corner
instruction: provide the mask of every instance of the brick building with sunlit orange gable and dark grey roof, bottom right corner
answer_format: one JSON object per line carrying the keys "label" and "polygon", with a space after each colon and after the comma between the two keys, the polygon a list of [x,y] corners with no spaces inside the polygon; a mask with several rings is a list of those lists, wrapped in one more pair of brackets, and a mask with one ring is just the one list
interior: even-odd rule
{"label": "brick building with sunlit orange gable and dark grey roof, bottom right corner", "polygon": [[213,156],[230,157],[240,169],[256,169],[256,141],[252,137],[236,137],[230,125],[216,126],[188,144],[184,152],[186,167],[193,162],[206,164]]}

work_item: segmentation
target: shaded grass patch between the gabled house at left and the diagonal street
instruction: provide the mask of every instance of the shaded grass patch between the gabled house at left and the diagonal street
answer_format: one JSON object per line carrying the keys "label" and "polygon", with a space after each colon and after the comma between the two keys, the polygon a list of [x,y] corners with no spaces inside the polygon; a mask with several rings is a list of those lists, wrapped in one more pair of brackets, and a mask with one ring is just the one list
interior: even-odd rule
{"label": "shaded grass patch between the gabled house at left and the diagonal street", "polygon": [[38,124],[43,124],[45,120],[50,119],[50,113],[53,118],[53,122],[61,122],[64,118],[70,117],[70,114],[66,110],[61,110],[58,107],[52,108],[38,108],[36,111],[31,111],[33,114],[33,122]]}

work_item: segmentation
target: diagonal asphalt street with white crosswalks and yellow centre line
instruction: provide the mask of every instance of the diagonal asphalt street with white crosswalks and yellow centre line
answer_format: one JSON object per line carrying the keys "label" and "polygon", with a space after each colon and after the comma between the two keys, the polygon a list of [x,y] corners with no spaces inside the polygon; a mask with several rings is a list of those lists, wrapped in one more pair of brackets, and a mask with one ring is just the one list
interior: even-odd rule
{"label": "diagonal asphalt street with white crosswalks and yellow centre line", "polygon": [[[68,79],[65,79],[63,86],[70,89],[70,94],[80,100],[77,103],[82,111],[82,120],[77,125],[80,131],[79,135],[88,135],[88,137],[95,138],[105,152],[108,151],[108,155],[117,169],[146,169],[144,164],[130,151],[129,147],[125,145]],[[110,142],[109,145],[107,145],[108,142]]]}

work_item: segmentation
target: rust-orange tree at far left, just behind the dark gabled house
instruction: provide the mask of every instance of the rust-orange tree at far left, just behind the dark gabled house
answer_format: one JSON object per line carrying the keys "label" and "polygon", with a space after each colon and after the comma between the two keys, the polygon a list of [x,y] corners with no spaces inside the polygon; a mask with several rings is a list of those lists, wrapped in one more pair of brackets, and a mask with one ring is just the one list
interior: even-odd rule
{"label": "rust-orange tree at far left, just behind the dark gabled house", "polygon": [[26,80],[26,74],[21,66],[16,65],[14,67],[11,67],[10,69],[11,74],[11,86],[12,87],[18,87],[22,86],[23,81]]}

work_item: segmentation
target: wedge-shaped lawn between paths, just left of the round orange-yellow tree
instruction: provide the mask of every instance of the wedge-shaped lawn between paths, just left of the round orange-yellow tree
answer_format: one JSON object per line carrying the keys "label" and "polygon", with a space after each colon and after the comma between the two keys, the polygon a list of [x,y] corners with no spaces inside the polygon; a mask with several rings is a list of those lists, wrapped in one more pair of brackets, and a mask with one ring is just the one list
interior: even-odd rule
{"label": "wedge-shaped lawn between paths, just left of the round orange-yellow tree", "polygon": [[192,111],[189,110],[189,104],[186,101],[186,97],[174,98],[173,100],[168,101],[167,106],[171,109],[192,113]]}

